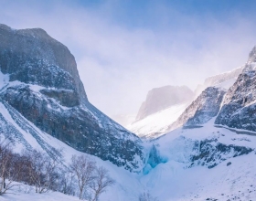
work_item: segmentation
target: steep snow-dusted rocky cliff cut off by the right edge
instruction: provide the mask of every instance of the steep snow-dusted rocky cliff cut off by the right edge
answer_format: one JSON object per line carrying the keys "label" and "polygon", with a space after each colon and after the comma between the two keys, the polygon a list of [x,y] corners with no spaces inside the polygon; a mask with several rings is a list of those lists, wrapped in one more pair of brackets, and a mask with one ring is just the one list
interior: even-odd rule
{"label": "steep snow-dusted rocky cliff cut off by the right edge", "polygon": [[249,59],[236,80],[228,90],[216,124],[256,131],[256,48],[251,50]]}

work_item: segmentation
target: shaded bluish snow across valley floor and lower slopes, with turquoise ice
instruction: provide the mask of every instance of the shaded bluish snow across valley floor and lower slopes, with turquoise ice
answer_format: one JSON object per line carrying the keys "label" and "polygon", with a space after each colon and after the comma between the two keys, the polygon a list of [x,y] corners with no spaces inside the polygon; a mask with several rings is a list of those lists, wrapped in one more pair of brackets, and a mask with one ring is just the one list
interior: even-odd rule
{"label": "shaded bluish snow across valley floor and lower slopes, with turquoise ice", "polygon": [[[170,108],[170,121],[175,121],[172,117],[181,108],[185,110],[186,104]],[[16,152],[22,149],[41,149],[49,155],[58,156],[65,164],[69,164],[72,154],[86,154],[42,132],[3,100],[0,111],[1,137],[12,138]],[[100,201],[137,201],[144,191],[157,196],[161,201],[209,198],[228,200],[235,199],[235,196],[240,197],[237,200],[253,200],[256,196],[256,133],[238,134],[244,132],[215,127],[214,121],[215,118],[199,128],[176,129],[152,142],[144,143],[147,151],[144,153],[145,161],[140,164],[141,169],[137,174],[91,155],[98,165],[110,171],[116,181],[116,185],[102,194]],[[8,132],[1,131],[4,129],[8,129]],[[156,151],[150,154],[153,145]],[[229,162],[231,164],[227,166]],[[59,193],[37,195],[18,190],[0,197],[3,201],[46,199],[76,200],[75,197]]]}

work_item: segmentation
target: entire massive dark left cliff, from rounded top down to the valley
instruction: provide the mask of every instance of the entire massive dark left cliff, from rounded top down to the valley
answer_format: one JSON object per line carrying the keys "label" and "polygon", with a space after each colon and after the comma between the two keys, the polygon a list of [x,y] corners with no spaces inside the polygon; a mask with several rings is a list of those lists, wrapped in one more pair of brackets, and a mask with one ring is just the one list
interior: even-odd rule
{"label": "entire massive dark left cliff, from rounded top down to the valley", "polygon": [[1,101],[42,132],[113,164],[139,168],[141,140],[91,105],[75,58],[44,30],[0,25],[0,69]]}

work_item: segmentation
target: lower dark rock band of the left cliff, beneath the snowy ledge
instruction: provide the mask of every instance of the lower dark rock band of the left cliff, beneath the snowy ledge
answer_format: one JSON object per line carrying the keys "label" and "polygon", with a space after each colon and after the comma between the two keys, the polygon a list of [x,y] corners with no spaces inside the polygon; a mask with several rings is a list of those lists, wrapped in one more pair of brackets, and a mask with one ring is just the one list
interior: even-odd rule
{"label": "lower dark rock band of the left cliff, beneath the snowy ledge", "polygon": [[127,169],[139,167],[133,160],[136,154],[143,158],[139,139],[122,129],[102,128],[87,110],[81,107],[63,109],[57,101],[30,90],[27,85],[7,88],[1,97],[41,131],[71,147]]}

